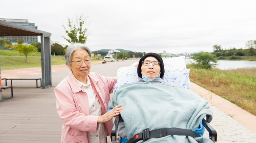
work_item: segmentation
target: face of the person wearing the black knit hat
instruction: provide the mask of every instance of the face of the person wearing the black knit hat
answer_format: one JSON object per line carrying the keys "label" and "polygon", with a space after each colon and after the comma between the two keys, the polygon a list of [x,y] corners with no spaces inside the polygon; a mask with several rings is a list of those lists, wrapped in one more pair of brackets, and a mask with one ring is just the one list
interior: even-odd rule
{"label": "face of the person wearing the black knit hat", "polygon": [[[144,59],[144,61],[153,62],[153,61],[157,61],[157,59],[154,58],[153,56],[148,56],[146,59]],[[158,66],[153,66],[152,63],[150,63],[149,65],[142,64],[140,69],[141,69],[143,76],[146,76],[149,79],[153,79],[153,78],[157,77],[161,71],[160,64]]]}

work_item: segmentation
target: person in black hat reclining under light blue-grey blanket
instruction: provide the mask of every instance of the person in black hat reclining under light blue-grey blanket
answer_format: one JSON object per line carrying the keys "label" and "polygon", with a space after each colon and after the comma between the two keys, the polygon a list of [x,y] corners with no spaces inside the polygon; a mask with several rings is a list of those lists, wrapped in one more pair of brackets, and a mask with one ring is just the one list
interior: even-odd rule
{"label": "person in black hat reclining under light blue-grey blanket", "polygon": [[109,108],[122,104],[118,132],[121,143],[212,143],[203,121],[212,120],[209,103],[161,78],[163,59],[145,54],[138,63],[137,83],[123,84],[113,94]]}

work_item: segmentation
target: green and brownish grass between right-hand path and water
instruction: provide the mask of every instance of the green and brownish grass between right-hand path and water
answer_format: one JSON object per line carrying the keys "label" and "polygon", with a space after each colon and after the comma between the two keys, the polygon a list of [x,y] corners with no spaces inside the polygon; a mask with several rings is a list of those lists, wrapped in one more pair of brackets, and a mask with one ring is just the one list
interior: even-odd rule
{"label": "green and brownish grass between right-hand path and water", "polygon": [[189,79],[192,82],[256,115],[256,68],[189,68]]}

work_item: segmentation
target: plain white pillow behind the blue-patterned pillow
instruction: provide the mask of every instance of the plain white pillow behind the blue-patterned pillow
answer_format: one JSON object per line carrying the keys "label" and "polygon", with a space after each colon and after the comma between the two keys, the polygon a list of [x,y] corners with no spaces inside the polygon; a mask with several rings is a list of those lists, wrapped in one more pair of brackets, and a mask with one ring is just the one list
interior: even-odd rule
{"label": "plain white pillow behind the blue-patterned pillow", "polygon": [[[129,67],[134,67],[138,62],[131,64]],[[164,63],[164,70],[185,70],[186,69],[186,62],[185,56],[178,56],[169,59],[163,59]],[[188,78],[187,88],[191,89],[190,80]]]}

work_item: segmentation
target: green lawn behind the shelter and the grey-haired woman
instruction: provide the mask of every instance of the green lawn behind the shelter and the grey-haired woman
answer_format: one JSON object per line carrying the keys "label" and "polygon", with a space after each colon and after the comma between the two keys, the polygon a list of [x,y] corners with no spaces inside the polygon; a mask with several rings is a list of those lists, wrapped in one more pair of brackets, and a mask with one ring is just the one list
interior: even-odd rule
{"label": "green lawn behind the shelter and the grey-haired woman", "polygon": [[[18,68],[41,67],[41,53],[33,52],[27,56],[25,63],[25,56],[17,56],[19,53],[15,50],[0,50],[1,70],[13,70]],[[52,65],[65,64],[64,56],[51,56]],[[94,61],[102,61],[103,59]]]}

